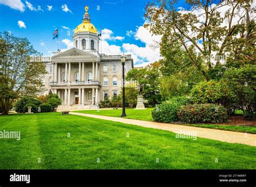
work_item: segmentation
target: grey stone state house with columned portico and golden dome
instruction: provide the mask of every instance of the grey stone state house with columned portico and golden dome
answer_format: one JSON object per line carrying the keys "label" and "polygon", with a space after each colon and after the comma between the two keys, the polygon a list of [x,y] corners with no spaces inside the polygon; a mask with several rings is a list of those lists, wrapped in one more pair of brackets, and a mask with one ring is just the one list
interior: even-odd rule
{"label": "grey stone state house with columned portico and golden dome", "polygon": [[[49,74],[44,88],[57,93],[62,107],[90,107],[104,98],[116,97],[123,84],[121,55],[99,54],[99,36],[91,23],[88,7],[83,23],[73,34],[73,47],[43,57]],[[131,55],[126,55],[125,74],[133,68]]]}

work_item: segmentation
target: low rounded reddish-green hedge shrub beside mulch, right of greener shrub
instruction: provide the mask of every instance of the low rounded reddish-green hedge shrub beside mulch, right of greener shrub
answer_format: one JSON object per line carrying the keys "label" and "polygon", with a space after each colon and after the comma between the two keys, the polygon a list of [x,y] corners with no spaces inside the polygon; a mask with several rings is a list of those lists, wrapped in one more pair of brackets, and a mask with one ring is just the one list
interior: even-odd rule
{"label": "low rounded reddish-green hedge shrub beside mulch, right of greener shrub", "polygon": [[187,123],[223,123],[227,110],[216,104],[189,104],[180,107],[178,118]]}

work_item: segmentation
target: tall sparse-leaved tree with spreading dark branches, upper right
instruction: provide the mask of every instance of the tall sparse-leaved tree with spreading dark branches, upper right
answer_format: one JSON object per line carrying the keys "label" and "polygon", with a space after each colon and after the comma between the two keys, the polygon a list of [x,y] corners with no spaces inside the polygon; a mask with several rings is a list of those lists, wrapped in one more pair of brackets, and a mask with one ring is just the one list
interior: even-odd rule
{"label": "tall sparse-leaved tree with spreading dark branches, upper right", "polygon": [[[219,67],[224,59],[254,61],[255,22],[249,15],[253,15],[255,8],[251,0],[187,0],[188,8],[178,11],[177,3],[149,2],[144,26],[153,34],[163,35],[165,42],[161,46],[173,50],[180,46],[184,48],[188,59],[183,66],[193,64],[208,81],[212,76],[207,76],[207,71]],[[221,12],[223,10],[226,11]]]}

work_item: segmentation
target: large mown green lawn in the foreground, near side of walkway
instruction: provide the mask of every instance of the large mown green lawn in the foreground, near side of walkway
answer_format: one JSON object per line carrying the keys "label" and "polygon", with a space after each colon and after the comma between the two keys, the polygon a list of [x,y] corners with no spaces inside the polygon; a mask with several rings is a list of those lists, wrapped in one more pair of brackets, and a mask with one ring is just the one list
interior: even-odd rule
{"label": "large mown green lawn in the foreground, near side of walkway", "polygon": [[21,140],[0,139],[0,169],[256,169],[256,147],[59,112],[0,116],[3,130]]}

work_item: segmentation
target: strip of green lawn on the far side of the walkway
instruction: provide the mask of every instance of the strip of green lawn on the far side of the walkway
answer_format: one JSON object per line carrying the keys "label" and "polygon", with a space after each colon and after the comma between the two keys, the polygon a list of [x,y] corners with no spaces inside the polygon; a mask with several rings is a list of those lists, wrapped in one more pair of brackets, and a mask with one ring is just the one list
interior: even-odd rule
{"label": "strip of green lawn on the far side of the walkway", "polygon": [[[147,110],[134,110],[134,109],[126,109],[126,115],[129,119],[139,119],[145,121],[152,121],[151,111],[153,108],[147,108]],[[89,113],[96,114],[100,116],[111,116],[111,117],[120,117],[122,114],[122,110],[83,110],[83,111],[74,111],[79,113]],[[256,127],[253,126],[236,126],[236,125],[214,125],[214,124],[180,124],[187,126],[196,126],[203,128],[214,128],[218,130],[225,131],[235,131],[235,132],[246,132],[251,134],[256,134]]]}

